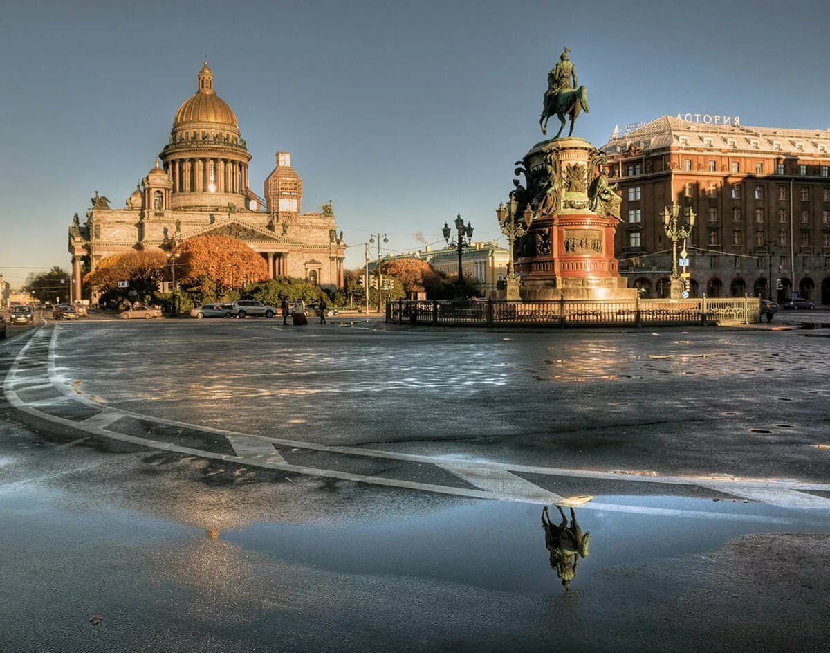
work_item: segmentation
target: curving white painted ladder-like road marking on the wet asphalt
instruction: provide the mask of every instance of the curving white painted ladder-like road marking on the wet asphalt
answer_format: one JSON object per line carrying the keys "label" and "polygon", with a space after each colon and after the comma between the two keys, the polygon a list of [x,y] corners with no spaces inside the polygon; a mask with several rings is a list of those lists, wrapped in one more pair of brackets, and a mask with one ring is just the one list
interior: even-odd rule
{"label": "curving white painted ladder-like road marking on the wet asphalt", "polygon": [[[466,459],[448,460],[447,457],[398,454],[390,451],[368,450],[354,446],[324,446],[311,442],[286,440],[283,438],[272,438],[268,436],[257,436],[245,433],[238,433],[235,431],[216,429],[208,426],[196,426],[185,422],[176,422],[173,420],[167,420],[160,417],[152,417],[140,413],[134,413],[121,409],[116,409],[113,407],[107,407],[73,391],[69,386],[71,380],[58,375],[57,368],[55,365],[57,331],[58,329],[56,327],[53,327],[51,334],[48,334],[51,335],[51,337],[49,338],[49,348],[47,353],[48,358],[46,366],[46,371],[50,378],[51,385],[55,387],[59,392],[61,392],[61,395],[63,396],[56,397],[56,400],[71,398],[77,402],[84,403],[87,406],[97,408],[100,411],[100,413],[96,414],[93,417],[89,417],[82,422],[75,422],[72,420],[68,420],[64,417],[57,417],[54,415],[41,412],[37,410],[35,402],[23,402],[22,399],[17,395],[17,385],[15,379],[17,376],[17,372],[20,368],[20,363],[22,363],[22,361],[26,359],[29,348],[32,348],[32,350],[34,350],[35,348],[33,348],[32,345],[42,341],[46,337],[46,333],[38,334],[37,338],[32,338],[26,344],[26,346],[22,348],[21,352],[17,355],[17,358],[12,364],[12,368],[9,370],[9,373],[7,374],[7,378],[3,383],[3,390],[7,396],[7,399],[13,407],[17,408],[17,410],[27,412],[28,414],[31,414],[34,417],[45,419],[50,422],[55,422],[61,424],[62,426],[68,426],[76,431],[86,431],[96,436],[109,438],[111,440],[123,441],[134,445],[145,446],[164,451],[175,451],[182,454],[212,458],[215,460],[232,461],[235,463],[252,465],[271,470],[281,470],[303,475],[324,476],[330,478],[338,478],[342,480],[353,480],[355,482],[370,483],[374,485],[403,487],[413,490],[425,490],[429,492],[438,492],[441,494],[461,495],[482,499],[515,500],[541,504],[559,503],[561,505],[568,505],[569,503],[576,503],[580,505],[583,504],[584,498],[560,497],[559,495],[549,492],[548,490],[540,488],[540,486],[535,485],[528,480],[521,479],[520,477],[511,474],[510,471],[526,471],[547,475],[564,475],[614,480],[639,480],[642,482],[674,483],[677,485],[698,485],[703,487],[710,487],[711,489],[715,489],[714,487],[712,487],[712,485],[717,485],[716,490],[720,492],[740,495],[738,493],[732,493],[732,491],[730,490],[730,488],[732,487],[732,483],[730,482],[730,480],[720,481],[719,479],[718,481],[720,482],[713,483],[713,479],[711,478],[701,479],[686,477],[635,475],[625,475],[621,478],[621,475],[614,472],[564,470],[558,468],[537,467],[533,465],[510,465],[496,463],[494,461],[476,461]],[[56,400],[51,401],[55,402]],[[41,402],[44,401],[48,402],[48,400],[41,400]],[[41,402],[37,402],[37,404],[40,405]],[[213,451],[204,451],[194,449],[192,447],[178,446],[170,442],[154,441],[148,438],[129,436],[116,431],[110,431],[106,428],[107,426],[110,426],[113,422],[118,421],[122,417],[134,417],[148,422],[167,424],[196,431],[204,431],[219,434],[227,438],[227,440],[231,443],[231,446],[233,447],[233,450],[237,455],[228,456],[227,454],[220,454]],[[315,467],[309,467],[305,465],[291,465],[290,463],[286,462],[286,460],[276,451],[276,449],[273,448],[274,445],[295,447],[299,449],[308,449],[313,451],[341,453],[351,456],[367,456],[376,458],[387,458],[398,461],[414,461],[428,463],[431,465],[441,467],[442,469],[451,471],[452,474],[457,475],[459,478],[466,480],[466,482],[476,486],[476,488],[479,489],[470,490],[445,485],[420,483],[416,481],[388,479],[372,475],[359,475],[339,470],[321,470]],[[760,500],[768,504],[776,504],[791,507],[793,506],[793,504],[789,503],[788,501],[783,501],[782,499],[792,500],[793,495],[798,495],[798,507],[826,509],[828,505],[830,505],[830,501],[827,501],[827,499],[821,499],[819,497],[815,497],[816,499],[818,499],[817,501],[809,500],[808,502],[805,502],[801,498],[803,497],[803,494],[793,491],[795,489],[830,490],[830,485],[800,484],[798,482],[780,480],[743,480],[740,483],[740,490],[742,493],[745,493],[743,494],[743,496],[746,496],[747,493],[750,493],[753,490],[755,490],[756,495],[750,498],[754,498],[755,500]],[[720,517],[725,517],[729,519],[758,519],[761,521],[770,521],[770,518],[758,517],[754,515],[709,513],[695,510],[656,509],[647,506],[616,506],[616,504],[593,503],[585,504],[583,505],[583,507],[589,509],[618,509],[625,512],[642,512],[647,514],[701,514],[701,516],[712,516],[713,518],[715,515],[718,515]]]}

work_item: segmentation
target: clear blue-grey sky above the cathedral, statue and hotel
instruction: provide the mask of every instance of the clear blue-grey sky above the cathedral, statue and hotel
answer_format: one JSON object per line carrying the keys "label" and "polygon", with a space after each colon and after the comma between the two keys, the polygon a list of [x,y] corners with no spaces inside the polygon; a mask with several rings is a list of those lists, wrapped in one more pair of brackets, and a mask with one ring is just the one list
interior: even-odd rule
{"label": "clear blue-grey sky above the cathedral, statue and hotel", "polygon": [[[476,240],[513,162],[543,139],[547,72],[567,45],[591,112],[574,135],[679,112],[830,127],[827,2],[267,0],[7,2],[0,21],[0,272],[69,266],[95,190],[123,207],[154,165],[207,55],[253,156],[290,150],[305,210],[334,200],[347,266]],[[555,122],[555,118],[554,118]],[[377,250],[374,250],[377,253]]]}

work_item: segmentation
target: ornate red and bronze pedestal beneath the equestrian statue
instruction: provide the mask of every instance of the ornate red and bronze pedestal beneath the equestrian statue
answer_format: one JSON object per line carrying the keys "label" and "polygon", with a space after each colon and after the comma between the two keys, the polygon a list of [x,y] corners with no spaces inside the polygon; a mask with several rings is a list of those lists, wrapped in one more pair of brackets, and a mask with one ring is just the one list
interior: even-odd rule
{"label": "ornate red and bronze pedestal beneath the equestrian statue", "polygon": [[520,211],[530,204],[534,212],[527,235],[516,243],[522,300],[636,297],[614,258],[620,200],[602,162],[588,141],[565,138],[536,144],[516,168],[527,183],[514,182]]}

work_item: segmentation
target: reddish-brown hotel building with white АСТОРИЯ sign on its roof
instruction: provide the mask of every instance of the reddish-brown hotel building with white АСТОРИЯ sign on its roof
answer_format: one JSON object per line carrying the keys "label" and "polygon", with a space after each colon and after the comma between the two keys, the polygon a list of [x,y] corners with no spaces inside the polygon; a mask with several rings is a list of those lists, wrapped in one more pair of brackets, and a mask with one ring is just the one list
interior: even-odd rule
{"label": "reddish-brown hotel building with white \u0410\u0421\u0422\u041e\u0420\u0418\u042f sign on its roof", "polygon": [[627,134],[615,129],[603,152],[622,192],[616,251],[630,287],[668,295],[671,241],[661,214],[674,201],[697,214],[687,248],[692,295],[771,290],[784,300],[794,288],[830,304],[830,129],[666,115]]}

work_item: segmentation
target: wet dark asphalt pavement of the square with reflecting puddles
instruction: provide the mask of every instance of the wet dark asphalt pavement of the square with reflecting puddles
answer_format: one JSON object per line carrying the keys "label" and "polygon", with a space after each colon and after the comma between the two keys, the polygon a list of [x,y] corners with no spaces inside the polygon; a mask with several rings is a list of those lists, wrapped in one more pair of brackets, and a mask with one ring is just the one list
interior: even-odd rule
{"label": "wet dark asphalt pavement of the square with reflecting puddles", "polygon": [[[0,404],[0,651],[830,646],[825,339],[226,320],[23,346],[0,374],[28,405],[178,448]],[[587,556],[568,522],[549,550],[544,492]]]}

